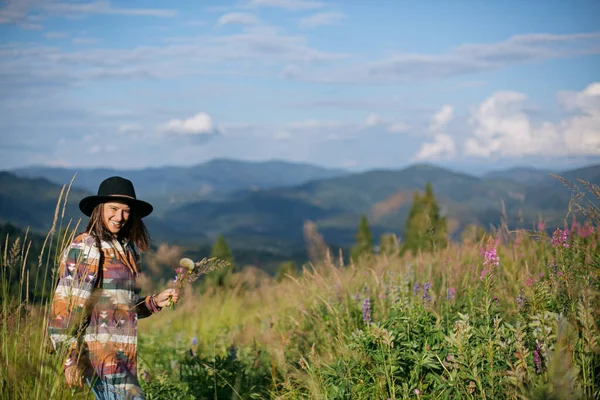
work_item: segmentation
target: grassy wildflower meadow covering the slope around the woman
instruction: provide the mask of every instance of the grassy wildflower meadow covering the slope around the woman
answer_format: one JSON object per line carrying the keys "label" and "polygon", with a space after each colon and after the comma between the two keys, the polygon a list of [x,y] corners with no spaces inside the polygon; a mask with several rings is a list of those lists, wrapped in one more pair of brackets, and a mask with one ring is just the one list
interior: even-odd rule
{"label": "grassy wildflower meadow covering the slope around the woman", "polygon": [[[500,226],[431,253],[392,248],[351,263],[317,235],[321,256],[297,274],[247,268],[225,287],[186,288],[174,310],[140,320],[146,398],[598,399],[597,210],[586,204],[588,222],[566,219],[552,234],[543,223]],[[59,214],[40,254],[28,254],[26,237],[3,244],[3,399],[91,398],[64,384],[44,329],[49,300],[29,298],[77,230]],[[148,293],[169,282],[144,284]]]}

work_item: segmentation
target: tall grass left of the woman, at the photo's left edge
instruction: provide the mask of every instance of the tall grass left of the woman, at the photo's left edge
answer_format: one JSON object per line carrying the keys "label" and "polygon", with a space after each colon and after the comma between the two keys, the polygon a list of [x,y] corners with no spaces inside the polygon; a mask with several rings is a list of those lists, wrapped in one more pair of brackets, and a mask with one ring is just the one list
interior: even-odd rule
{"label": "tall grass left of the woman, at the photo's left edge", "polygon": [[[72,183],[72,181],[71,181]],[[77,230],[64,223],[71,184],[63,186],[37,261],[29,254],[31,241],[4,239],[0,255],[0,398],[84,399],[89,391],[68,388],[62,366],[64,351],[55,351],[46,329],[56,283],[59,256]],[[15,276],[17,280],[15,280]],[[11,279],[13,278],[13,279]],[[18,282],[15,285],[15,282]]]}

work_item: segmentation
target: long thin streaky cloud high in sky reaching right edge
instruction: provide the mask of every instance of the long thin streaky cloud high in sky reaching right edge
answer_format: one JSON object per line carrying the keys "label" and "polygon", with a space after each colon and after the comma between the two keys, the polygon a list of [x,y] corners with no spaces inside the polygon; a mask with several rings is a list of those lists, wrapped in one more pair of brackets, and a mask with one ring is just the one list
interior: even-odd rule
{"label": "long thin streaky cloud high in sky reaching right edge", "polygon": [[305,70],[308,82],[418,82],[501,70],[526,63],[600,54],[600,32],[518,35],[493,43],[465,44],[443,53],[397,53],[335,69]]}

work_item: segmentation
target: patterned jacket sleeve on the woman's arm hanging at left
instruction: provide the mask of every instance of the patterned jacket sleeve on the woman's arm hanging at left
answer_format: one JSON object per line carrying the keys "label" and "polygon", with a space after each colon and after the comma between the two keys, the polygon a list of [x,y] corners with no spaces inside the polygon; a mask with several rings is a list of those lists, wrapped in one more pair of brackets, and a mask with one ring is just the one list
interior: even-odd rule
{"label": "patterned jacket sleeve on the woman's arm hanging at left", "polygon": [[60,261],[48,331],[56,350],[66,348],[64,368],[75,365],[80,355],[78,342],[85,334],[88,306],[98,280],[99,259],[93,238],[81,234],[65,249]]}

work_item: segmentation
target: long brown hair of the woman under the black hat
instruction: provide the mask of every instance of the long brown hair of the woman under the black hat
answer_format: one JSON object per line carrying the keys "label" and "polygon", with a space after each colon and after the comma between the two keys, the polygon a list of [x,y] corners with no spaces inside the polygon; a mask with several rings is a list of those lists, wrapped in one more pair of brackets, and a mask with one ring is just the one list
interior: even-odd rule
{"label": "long brown hair of the woman under the black hat", "polygon": [[[97,239],[111,241],[113,234],[104,225],[104,203],[94,207],[90,220],[85,231],[95,236]],[[150,249],[150,234],[135,207],[131,207],[131,212],[127,222],[117,234],[117,239],[129,239],[133,242],[139,251]]]}

